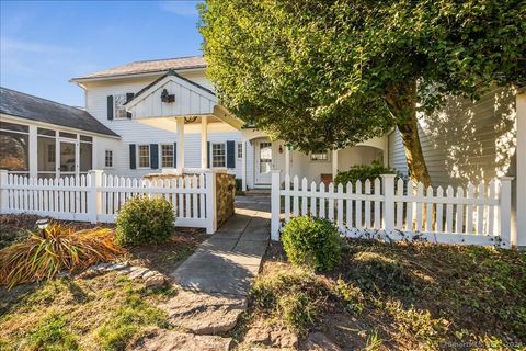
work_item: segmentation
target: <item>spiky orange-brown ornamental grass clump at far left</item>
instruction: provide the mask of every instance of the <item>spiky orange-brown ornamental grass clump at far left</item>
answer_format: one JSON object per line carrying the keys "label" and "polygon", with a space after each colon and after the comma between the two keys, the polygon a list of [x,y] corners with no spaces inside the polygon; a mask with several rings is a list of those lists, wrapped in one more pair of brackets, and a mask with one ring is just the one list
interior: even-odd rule
{"label": "spiky orange-brown ornamental grass clump at far left", "polygon": [[0,250],[0,284],[52,279],[61,270],[80,271],[100,261],[115,259],[123,251],[107,228],[73,231],[58,224],[44,233]]}

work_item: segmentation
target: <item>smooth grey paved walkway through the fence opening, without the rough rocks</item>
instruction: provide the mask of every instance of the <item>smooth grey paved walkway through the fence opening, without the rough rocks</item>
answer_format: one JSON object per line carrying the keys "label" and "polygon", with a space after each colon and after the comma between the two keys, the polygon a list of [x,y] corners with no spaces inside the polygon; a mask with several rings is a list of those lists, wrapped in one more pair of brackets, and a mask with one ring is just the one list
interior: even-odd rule
{"label": "smooth grey paved walkway through the fence opening, without the rough rocks", "polygon": [[270,200],[241,196],[236,214],[173,274],[183,290],[247,296],[260,270],[270,236]]}

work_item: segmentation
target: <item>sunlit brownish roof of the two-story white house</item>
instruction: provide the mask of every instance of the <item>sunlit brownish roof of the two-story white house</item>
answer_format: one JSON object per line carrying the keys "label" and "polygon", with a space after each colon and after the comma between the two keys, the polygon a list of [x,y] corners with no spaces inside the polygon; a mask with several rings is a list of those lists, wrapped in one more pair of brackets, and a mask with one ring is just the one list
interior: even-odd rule
{"label": "sunlit brownish roof of the two-story white house", "polygon": [[195,69],[206,68],[206,61],[203,56],[176,57],[167,59],[142,60],[113,67],[106,70],[92,72],[82,77],[73,78],[71,81],[93,79],[93,78],[111,78],[116,76],[141,75],[167,72],[171,69]]}

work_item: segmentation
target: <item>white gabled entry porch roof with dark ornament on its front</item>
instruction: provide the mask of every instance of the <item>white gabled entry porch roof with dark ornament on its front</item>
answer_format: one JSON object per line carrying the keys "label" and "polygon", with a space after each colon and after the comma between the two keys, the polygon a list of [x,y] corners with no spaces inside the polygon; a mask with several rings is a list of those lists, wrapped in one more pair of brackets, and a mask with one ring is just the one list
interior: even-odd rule
{"label": "white gabled entry porch roof with dark ornament on its front", "polygon": [[[173,95],[174,101],[161,100],[163,92]],[[220,105],[216,94],[175,71],[158,78],[142,88],[130,101],[125,103],[134,118],[215,116],[235,128],[241,128],[243,122],[232,116]]]}

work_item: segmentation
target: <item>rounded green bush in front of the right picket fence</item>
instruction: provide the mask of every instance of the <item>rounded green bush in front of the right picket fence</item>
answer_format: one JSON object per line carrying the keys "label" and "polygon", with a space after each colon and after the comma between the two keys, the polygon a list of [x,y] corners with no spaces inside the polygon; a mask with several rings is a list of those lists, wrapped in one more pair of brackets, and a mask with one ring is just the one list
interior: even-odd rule
{"label": "rounded green bush in front of the right picket fence", "polygon": [[316,270],[332,270],[341,260],[341,239],[327,219],[308,216],[293,218],[283,230],[283,248],[294,264]]}

